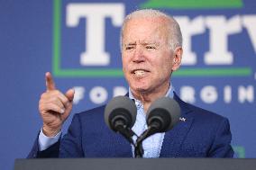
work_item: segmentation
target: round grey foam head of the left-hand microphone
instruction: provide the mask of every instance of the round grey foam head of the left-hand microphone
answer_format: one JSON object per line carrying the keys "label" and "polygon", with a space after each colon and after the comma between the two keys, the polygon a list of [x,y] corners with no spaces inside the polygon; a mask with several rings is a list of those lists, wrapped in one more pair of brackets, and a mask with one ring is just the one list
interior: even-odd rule
{"label": "round grey foam head of the left-hand microphone", "polygon": [[124,125],[126,128],[132,128],[136,120],[137,108],[135,103],[126,96],[114,97],[105,106],[105,123],[114,131],[117,131],[117,125]]}

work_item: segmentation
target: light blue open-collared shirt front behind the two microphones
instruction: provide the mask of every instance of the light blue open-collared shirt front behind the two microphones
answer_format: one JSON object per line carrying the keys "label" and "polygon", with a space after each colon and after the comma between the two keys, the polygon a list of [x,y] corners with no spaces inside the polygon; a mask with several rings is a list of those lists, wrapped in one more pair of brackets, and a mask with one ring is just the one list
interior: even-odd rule
{"label": "light blue open-collared shirt front behind the two microphones", "polygon": [[[173,89],[171,85],[169,86],[169,90],[165,96],[169,96],[170,98],[173,98]],[[135,101],[135,104],[137,107],[137,117],[132,130],[137,136],[141,136],[143,131],[148,129],[147,122],[146,122],[146,113],[144,112],[144,107],[142,102],[134,98],[130,88],[129,88],[129,98]],[[143,157],[160,157],[160,149],[162,146],[164,135],[165,133],[156,133],[150,136],[149,138],[143,140],[142,142],[142,148],[144,150]],[[136,139],[137,137],[133,136],[134,143]],[[134,157],[133,145],[132,145],[132,150],[133,150],[133,157]]]}

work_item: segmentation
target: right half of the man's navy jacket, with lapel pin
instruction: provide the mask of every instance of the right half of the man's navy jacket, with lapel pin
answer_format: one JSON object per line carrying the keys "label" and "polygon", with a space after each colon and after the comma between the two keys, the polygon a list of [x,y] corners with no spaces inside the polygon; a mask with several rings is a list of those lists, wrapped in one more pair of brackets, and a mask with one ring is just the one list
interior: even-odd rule
{"label": "right half of the man's navy jacket, with lapel pin", "polygon": [[185,103],[174,95],[181,118],[166,133],[161,157],[233,157],[229,121],[221,115]]}

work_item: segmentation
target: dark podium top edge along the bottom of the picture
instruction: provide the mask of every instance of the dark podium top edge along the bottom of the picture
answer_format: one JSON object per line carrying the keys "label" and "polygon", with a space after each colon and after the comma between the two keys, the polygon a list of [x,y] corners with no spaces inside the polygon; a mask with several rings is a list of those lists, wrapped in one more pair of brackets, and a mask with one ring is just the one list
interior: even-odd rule
{"label": "dark podium top edge along the bottom of the picture", "polygon": [[16,159],[14,170],[255,170],[256,159],[46,158]]}

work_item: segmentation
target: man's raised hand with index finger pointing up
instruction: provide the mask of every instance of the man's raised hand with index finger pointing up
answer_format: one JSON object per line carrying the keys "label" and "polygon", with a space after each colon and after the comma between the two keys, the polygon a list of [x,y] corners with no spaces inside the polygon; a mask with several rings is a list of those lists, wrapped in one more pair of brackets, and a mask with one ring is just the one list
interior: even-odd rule
{"label": "man's raised hand with index finger pointing up", "polygon": [[75,91],[69,89],[66,94],[59,92],[49,72],[45,74],[45,81],[46,92],[41,94],[39,112],[43,121],[42,132],[48,137],[53,137],[69,117]]}

